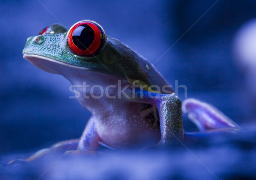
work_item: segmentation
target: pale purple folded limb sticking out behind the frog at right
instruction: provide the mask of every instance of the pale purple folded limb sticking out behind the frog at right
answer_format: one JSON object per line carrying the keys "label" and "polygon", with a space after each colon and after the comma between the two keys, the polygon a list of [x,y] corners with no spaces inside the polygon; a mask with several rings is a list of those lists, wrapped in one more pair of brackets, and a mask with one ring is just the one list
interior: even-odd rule
{"label": "pale purple folded limb sticking out behind the frog at right", "polygon": [[241,127],[224,115],[216,107],[193,98],[183,101],[182,110],[195,123],[201,132],[226,131],[234,132]]}

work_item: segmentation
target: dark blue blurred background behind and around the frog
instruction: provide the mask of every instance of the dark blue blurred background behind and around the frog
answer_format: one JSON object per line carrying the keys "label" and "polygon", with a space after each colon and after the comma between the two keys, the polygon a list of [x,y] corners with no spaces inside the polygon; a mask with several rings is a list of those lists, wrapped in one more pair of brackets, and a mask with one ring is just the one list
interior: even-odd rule
{"label": "dark blue blurred background behind and around the frog", "polygon": [[[59,21],[70,28],[94,20],[154,63],[215,1],[41,0],[45,7],[37,0],[0,1],[0,155],[79,138],[90,117],[69,99],[70,82],[23,59],[28,37]],[[214,104],[245,129],[255,129],[255,102],[248,100],[232,46],[255,9],[255,0],[219,0],[155,64],[170,84],[186,85],[189,98]],[[196,130],[186,115],[184,127]]]}

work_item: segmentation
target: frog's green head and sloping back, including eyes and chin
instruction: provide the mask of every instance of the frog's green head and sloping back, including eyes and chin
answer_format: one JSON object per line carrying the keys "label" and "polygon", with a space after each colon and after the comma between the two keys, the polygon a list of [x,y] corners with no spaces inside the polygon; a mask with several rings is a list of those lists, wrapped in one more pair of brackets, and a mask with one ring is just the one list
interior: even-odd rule
{"label": "frog's green head and sloping back, including eyes and chin", "polygon": [[79,21],[69,30],[59,24],[44,28],[38,36],[27,39],[23,57],[69,80],[81,78],[81,74],[103,74],[130,83],[167,84],[154,67],[150,68],[150,62],[119,40],[107,37],[104,29],[91,20]]}

